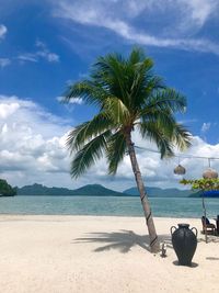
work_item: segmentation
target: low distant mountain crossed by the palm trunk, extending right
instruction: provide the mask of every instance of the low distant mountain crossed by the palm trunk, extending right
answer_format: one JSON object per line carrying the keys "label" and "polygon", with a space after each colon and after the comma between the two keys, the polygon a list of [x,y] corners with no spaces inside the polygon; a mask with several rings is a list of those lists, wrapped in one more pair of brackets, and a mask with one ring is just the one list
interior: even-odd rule
{"label": "low distant mountain crossed by the palm trunk, extending right", "polygon": [[[150,198],[187,198],[194,196],[197,191],[192,190],[180,190],[180,189],[160,189],[160,188],[150,188],[147,189],[148,196]],[[124,191],[124,193],[130,195],[139,195],[137,188],[130,188]]]}

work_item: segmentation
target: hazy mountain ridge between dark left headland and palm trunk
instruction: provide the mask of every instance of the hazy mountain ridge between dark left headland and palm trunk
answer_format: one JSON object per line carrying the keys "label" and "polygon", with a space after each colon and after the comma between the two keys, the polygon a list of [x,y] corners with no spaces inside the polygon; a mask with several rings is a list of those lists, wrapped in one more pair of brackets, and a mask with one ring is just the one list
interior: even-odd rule
{"label": "hazy mountain ridge between dark left headland and palm trunk", "polygon": [[16,188],[18,195],[96,195],[96,196],[127,196],[122,192],[106,189],[100,184],[89,184],[82,188],[70,190],[67,188],[47,188],[42,184],[25,185]]}

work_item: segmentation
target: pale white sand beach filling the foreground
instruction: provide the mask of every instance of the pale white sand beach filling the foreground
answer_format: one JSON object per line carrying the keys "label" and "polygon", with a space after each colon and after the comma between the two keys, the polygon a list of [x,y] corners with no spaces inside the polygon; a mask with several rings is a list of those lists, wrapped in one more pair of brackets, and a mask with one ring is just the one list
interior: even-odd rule
{"label": "pale white sand beach filling the foreground", "polygon": [[143,217],[0,216],[0,292],[219,292],[219,237],[198,234],[193,267],[177,266],[170,227],[155,218],[168,257],[147,250]]}

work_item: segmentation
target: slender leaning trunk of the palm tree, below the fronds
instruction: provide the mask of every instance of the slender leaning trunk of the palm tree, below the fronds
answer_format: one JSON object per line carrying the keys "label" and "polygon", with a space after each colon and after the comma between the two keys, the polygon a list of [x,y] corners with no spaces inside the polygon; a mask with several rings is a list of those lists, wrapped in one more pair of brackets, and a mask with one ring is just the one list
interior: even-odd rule
{"label": "slender leaning trunk of the palm tree, below the fronds", "polygon": [[140,172],[140,169],[139,169],[139,166],[138,166],[138,161],[137,161],[137,158],[136,158],[136,151],[135,151],[134,143],[131,142],[130,135],[126,136],[126,143],[127,143],[128,153],[129,153],[129,156],[130,156],[132,171],[134,171],[135,178],[136,178],[136,183],[137,183],[137,187],[138,187],[138,191],[140,193],[141,204],[142,204],[145,216],[146,216],[146,224],[148,226],[148,232],[149,232],[149,237],[150,237],[151,252],[155,252],[157,253],[157,252],[160,251],[160,243],[159,243],[158,235],[157,235],[157,232],[155,232],[155,226],[154,226],[154,223],[153,223],[150,204],[149,204],[149,201],[148,201],[148,196],[146,194],[143,180],[142,180],[141,172]]}

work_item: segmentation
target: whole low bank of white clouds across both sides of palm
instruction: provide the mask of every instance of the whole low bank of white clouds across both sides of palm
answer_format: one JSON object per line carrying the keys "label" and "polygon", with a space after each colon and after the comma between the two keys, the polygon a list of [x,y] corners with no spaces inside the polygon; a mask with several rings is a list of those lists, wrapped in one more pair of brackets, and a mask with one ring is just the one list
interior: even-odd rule
{"label": "whole low bank of white clouds across both sides of palm", "polygon": [[[107,176],[105,158],[99,160],[79,180],[69,176],[70,158],[66,137],[70,122],[64,121],[31,100],[0,95],[0,178],[13,185],[32,184],[78,188],[88,183],[101,183],[116,190],[135,185],[130,159],[125,156],[115,177]],[[132,136],[136,146],[155,149],[138,133]],[[160,155],[136,148],[137,159],[147,185],[176,187],[180,177],[173,173],[177,158],[160,160]],[[182,156],[218,157],[219,144],[210,145],[200,137],[193,137],[193,147]],[[200,178],[208,167],[207,159],[182,158],[186,178]],[[219,160],[211,160],[219,170]]]}

